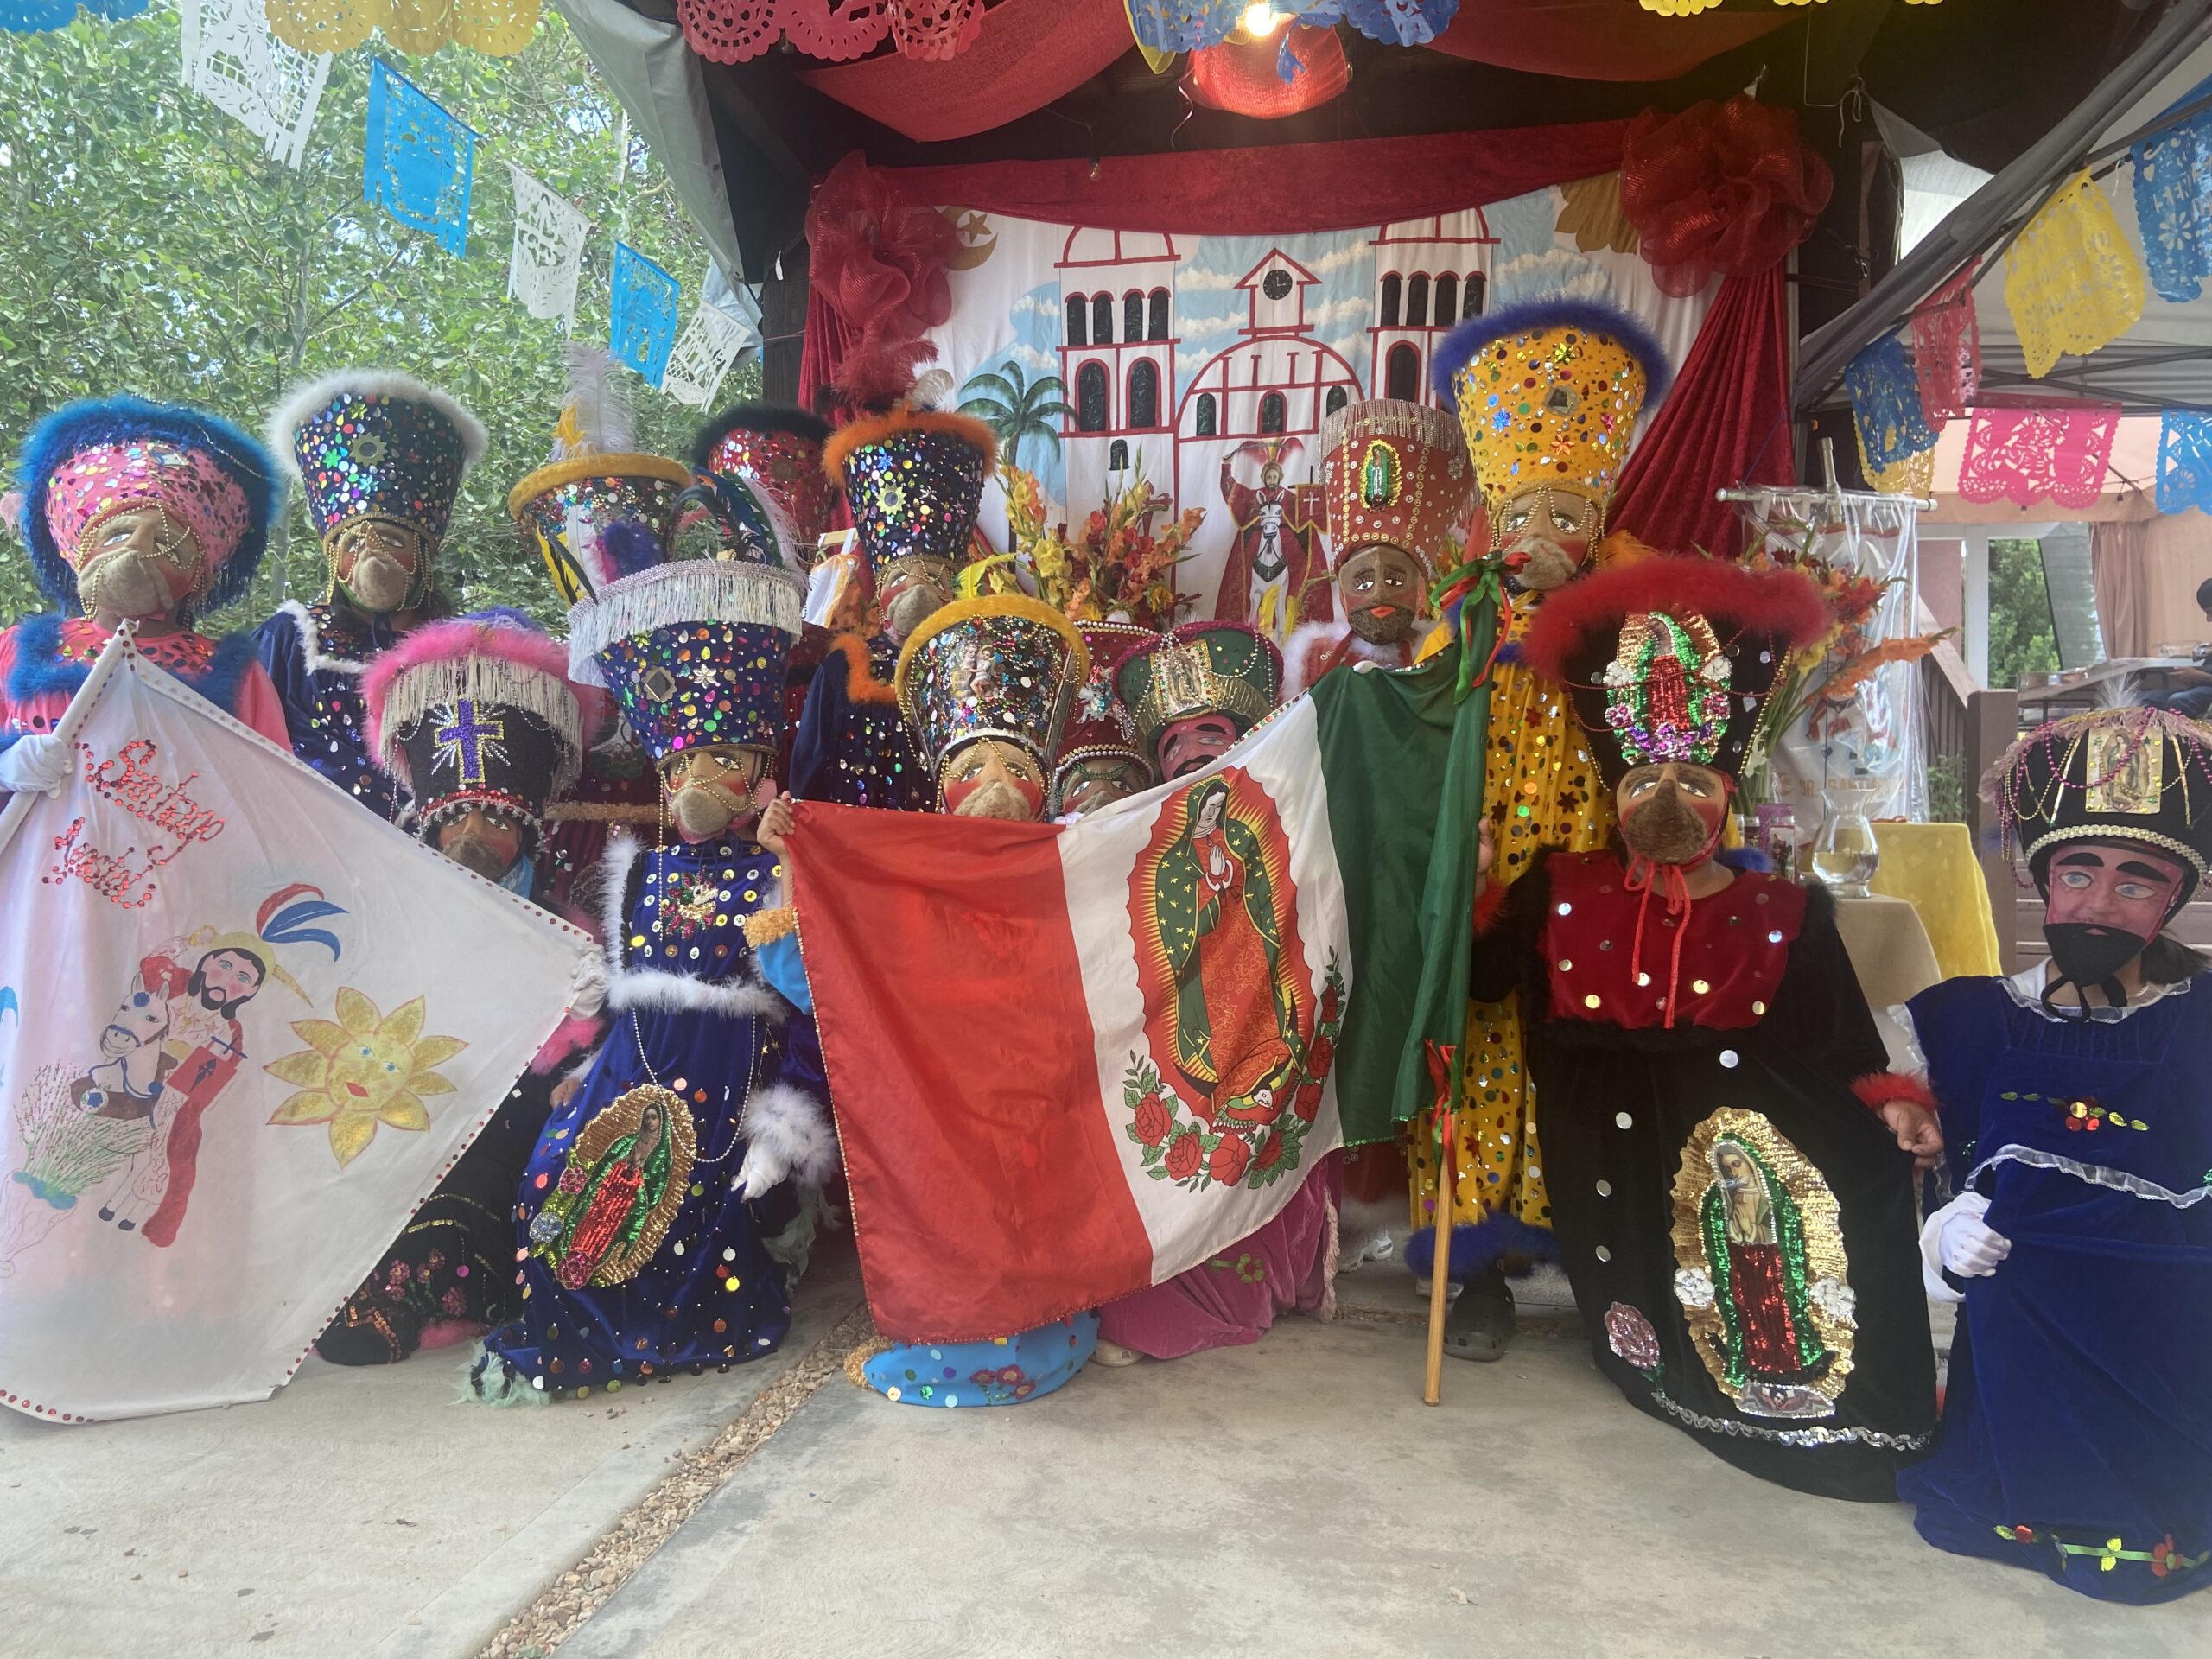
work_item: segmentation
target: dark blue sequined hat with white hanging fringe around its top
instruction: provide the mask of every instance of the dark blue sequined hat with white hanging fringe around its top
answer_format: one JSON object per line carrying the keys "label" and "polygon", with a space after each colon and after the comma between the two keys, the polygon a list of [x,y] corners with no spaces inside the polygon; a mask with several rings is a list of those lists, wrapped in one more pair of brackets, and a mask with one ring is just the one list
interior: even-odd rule
{"label": "dark blue sequined hat with white hanging fringe around its top", "polygon": [[776,520],[752,484],[726,478],[719,498],[776,562],[672,560],[639,526],[617,524],[606,540],[628,573],[568,611],[568,672],[613,692],[655,761],[708,743],[770,754],[783,743],[783,670],[805,584],[783,566]]}

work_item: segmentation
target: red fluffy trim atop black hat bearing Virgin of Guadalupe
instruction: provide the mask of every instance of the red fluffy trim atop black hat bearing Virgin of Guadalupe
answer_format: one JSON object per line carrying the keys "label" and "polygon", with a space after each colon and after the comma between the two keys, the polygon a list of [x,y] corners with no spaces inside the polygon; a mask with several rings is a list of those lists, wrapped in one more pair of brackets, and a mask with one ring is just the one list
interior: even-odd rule
{"label": "red fluffy trim atop black hat bearing Virgin of Guadalupe", "polygon": [[1787,650],[1827,633],[1820,588],[1796,571],[1745,571],[1728,560],[1659,557],[1615,564],[1544,595],[1522,661],[1562,684],[1566,659],[1597,628],[1641,611],[1697,611],[1723,628],[1776,635]]}

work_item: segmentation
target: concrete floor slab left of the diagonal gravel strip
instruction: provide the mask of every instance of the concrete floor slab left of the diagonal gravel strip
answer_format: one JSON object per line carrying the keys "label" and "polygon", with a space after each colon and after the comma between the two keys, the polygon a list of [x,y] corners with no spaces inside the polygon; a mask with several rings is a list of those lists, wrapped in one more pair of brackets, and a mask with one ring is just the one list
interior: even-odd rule
{"label": "concrete floor slab left of the diagonal gravel strip", "polygon": [[447,1352],[221,1411],[0,1411],[0,1655],[473,1655],[858,1298],[816,1263],[768,1360],[549,1407],[465,1405]]}

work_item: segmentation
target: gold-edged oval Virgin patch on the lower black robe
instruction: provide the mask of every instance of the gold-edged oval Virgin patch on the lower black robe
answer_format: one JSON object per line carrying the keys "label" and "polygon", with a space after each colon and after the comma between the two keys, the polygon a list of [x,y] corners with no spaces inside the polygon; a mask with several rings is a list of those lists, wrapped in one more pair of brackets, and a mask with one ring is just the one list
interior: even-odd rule
{"label": "gold-edged oval Virgin patch on the lower black robe", "polygon": [[1829,1418],[1856,1296],[1836,1194],[1759,1113],[1723,1108],[1681,1148],[1674,1296],[1690,1345],[1750,1418]]}

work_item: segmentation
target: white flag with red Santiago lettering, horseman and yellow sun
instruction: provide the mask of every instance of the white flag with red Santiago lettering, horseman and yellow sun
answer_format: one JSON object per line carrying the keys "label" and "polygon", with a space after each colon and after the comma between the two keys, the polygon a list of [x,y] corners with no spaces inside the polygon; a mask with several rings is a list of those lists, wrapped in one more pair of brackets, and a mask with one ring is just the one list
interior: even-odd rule
{"label": "white flag with red Santiago lettering, horseman and yellow sun", "polygon": [[588,938],[137,655],[0,810],[0,1405],[274,1394],[562,1022]]}

